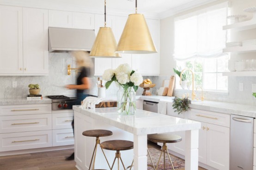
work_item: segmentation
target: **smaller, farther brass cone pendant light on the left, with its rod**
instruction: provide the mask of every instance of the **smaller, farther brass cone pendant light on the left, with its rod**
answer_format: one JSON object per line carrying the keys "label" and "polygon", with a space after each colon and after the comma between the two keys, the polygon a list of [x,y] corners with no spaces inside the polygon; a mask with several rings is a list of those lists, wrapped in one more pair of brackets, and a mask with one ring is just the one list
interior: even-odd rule
{"label": "smaller, farther brass cone pendant light on the left, with its rod", "polygon": [[105,23],[104,27],[100,27],[94,44],[91,48],[89,56],[91,58],[121,58],[116,51],[116,39],[110,27],[106,27],[106,0],[105,7]]}

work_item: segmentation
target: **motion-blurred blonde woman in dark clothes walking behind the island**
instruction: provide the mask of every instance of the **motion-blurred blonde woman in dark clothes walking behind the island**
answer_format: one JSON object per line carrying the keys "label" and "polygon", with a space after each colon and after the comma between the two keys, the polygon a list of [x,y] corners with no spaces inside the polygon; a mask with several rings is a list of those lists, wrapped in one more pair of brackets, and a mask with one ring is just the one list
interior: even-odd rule
{"label": "motion-blurred blonde woman in dark clothes walking behind the island", "polygon": [[[74,51],[72,55],[76,59],[77,67],[79,67],[79,75],[77,76],[76,84],[69,84],[66,86],[68,89],[76,89],[77,105],[81,105],[83,101],[88,96],[88,89],[91,88],[90,83],[90,70],[93,67],[93,62],[89,58],[89,53],[85,51]],[[72,127],[74,132],[74,119],[72,121]],[[73,160],[74,153],[66,158],[66,160]]]}

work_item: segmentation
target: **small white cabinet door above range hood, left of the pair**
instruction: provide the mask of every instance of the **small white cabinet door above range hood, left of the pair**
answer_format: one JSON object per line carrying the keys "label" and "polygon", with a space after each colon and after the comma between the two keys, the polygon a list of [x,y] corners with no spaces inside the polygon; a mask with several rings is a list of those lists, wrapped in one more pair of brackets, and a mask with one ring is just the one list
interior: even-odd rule
{"label": "small white cabinet door above range hood, left of the pair", "polygon": [[49,27],[72,28],[72,12],[49,10]]}

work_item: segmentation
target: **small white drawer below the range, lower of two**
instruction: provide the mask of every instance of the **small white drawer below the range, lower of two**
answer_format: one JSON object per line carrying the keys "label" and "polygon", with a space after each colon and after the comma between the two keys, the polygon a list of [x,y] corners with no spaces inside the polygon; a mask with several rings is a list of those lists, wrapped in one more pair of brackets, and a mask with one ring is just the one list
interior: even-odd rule
{"label": "small white drawer below the range, lower of two", "polygon": [[52,131],[53,147],[73,145],[74,135],[73,129],[57,129]]}

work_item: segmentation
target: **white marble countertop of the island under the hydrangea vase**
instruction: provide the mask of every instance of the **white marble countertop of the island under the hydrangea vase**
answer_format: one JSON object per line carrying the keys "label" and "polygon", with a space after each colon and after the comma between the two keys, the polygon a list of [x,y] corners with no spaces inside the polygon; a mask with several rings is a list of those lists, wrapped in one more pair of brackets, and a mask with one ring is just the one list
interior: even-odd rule
{"label": "white marble countertop of the island under the hydrangea vase", "polygon": [[102,120],[104,123],[113,125],[135,135],[201,128],[201,123],[197,121],[162,115],[140,109],[137,109],[134,115],[118,115],[116,107],[96,108],[95,110],[91,110],[83,109],[80,106],[73,106],[73,110],[91,118]]}

